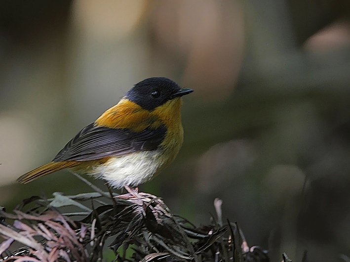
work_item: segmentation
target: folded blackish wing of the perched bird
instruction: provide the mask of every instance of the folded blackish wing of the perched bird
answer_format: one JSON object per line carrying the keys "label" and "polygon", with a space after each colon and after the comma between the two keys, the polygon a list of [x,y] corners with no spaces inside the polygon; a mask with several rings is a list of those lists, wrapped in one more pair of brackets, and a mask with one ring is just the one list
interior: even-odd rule
{"label": "folded blackish wing of the perched bird", "polygon": [[163,141],[165,133],[165,126],[134,132],[127,129],[94,127],[92,123],[78,132],[53,162],[87,161],[153,150]]}

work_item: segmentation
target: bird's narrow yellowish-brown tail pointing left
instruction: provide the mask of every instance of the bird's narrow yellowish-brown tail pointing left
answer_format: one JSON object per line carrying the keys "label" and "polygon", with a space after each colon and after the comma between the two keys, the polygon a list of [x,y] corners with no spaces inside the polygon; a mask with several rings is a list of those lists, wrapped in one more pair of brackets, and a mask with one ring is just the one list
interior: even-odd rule
{"label": "bird's narrow yellowish-brown tail pointing left", "polygon": [[53,172],[59,171],[61,169],[72,168],[77,166],[78,164],[79,162],[75,162],[75,161],[62,161],[57,163],[50,162],[24,175],[21,175],[20,177],[17,178],[17,182],[28,183],[37,179],[40,176],[48,175]]}

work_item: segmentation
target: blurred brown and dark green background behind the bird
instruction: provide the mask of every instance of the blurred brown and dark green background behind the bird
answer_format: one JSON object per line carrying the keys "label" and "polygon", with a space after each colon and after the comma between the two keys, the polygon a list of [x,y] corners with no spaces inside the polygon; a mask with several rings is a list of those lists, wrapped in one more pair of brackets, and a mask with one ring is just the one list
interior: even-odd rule
{"label": "blurred brown and dark green background behind the bird", "polygon": [[197,224],[221,198],[271,261],[350,261],[349,0],[1,1],[0,206],[91,191],[14,181],[155,76],[194,93],[179,156],[140,190]]}

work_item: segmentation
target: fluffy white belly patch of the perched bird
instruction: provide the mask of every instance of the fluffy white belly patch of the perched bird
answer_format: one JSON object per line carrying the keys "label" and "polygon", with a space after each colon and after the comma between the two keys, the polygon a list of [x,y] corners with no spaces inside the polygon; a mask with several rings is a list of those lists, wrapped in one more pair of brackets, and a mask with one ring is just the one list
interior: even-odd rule
{"label": "fluffy white belly patch of the perched bird", "polygon": [[94,168],[90,175],[105,179],[115,188],[136,186],[151,180],[160,171],[165,163],[159,161],[159,156],[159,151],[144,151],[114,157],[104,165]]}

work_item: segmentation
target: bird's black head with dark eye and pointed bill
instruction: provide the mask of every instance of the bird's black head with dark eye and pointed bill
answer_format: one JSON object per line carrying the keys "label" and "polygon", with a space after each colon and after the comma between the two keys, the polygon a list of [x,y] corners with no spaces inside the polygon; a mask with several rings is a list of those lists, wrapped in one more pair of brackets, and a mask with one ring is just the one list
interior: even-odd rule
{"label": "bird's black head with dark eye and pointed bill", "polygon": [[167,101],[192,91],[192,89],[180,88],[168,78],[153,77],[137,83],[125,94],[125,97],[143,109],[152,111]]}

